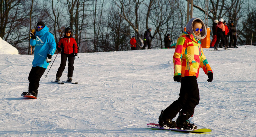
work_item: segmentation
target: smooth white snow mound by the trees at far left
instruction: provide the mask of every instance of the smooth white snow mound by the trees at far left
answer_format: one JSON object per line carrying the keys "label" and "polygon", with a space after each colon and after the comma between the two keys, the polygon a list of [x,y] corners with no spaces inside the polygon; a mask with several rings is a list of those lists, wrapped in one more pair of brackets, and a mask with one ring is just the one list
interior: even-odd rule
{"label": "smooth white snow mound by the trees at far left", "polygon": [[19,51],[0,37],[0,54],[18,55]]}

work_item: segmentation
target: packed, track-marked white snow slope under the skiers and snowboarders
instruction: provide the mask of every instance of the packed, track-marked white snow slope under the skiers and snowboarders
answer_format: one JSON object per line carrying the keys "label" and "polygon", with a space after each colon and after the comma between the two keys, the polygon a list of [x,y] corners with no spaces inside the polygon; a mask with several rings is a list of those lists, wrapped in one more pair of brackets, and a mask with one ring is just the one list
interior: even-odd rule
{"label": "packed, track-marked white snow slope under the skiers and snowboarders", "polygon": [[[173,81],[174,49],[152,49],[78,53],[73,81],[79,83],[64,85],[51,82],[60,64],[61,55],[55,54],[35,100],[21,97],[28,91],[34,55],[1,55],[0,136],[255,137],[256,46],[203,50],[213,82],[200,69],[200,102],[190,121],[211,133],[146,127],[158,123],[161,110],[178,99],[181,85]],[[61,81],[67,79],[67,67],[68,62]]]}

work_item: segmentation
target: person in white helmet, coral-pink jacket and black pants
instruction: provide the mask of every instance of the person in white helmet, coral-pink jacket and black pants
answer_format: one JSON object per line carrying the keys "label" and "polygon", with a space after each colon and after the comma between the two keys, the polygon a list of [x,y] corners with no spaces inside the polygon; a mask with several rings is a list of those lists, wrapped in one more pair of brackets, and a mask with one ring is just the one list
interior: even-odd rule
{"label": "person in white helmet, coral-pink jacket and black pants", "polygon": [[223,24],[223,22],[224,22],[224,19],[220,18],[217,24],[217,40],[214,46],[214,50],[218,50],[220,40],[224,49],[227,49],[226,40],[225,40],[225,25]]}

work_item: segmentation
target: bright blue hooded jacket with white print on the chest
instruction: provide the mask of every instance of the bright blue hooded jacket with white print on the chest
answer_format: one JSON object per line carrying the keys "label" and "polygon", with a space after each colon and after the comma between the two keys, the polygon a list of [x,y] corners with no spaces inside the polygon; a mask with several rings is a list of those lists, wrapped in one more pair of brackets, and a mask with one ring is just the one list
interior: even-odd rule
{"label": "bright blue hooded jacket with white print on the chest", "polygon": [[56,51],[56,42],[46,25],[41,31],[36,29],[36,39],[30,39],[30,45],[35,46],[33,67],[39,66],[47,69],[49,63],[45,60],[47,54],[53,55]]}

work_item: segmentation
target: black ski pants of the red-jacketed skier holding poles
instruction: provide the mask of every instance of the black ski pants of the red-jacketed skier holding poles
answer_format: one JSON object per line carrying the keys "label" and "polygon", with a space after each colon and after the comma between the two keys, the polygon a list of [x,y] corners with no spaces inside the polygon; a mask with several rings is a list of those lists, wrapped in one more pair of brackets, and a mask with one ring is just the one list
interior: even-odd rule
{"label": "black ski pants of the red-jacketed skier holding poles", "polygon": [[73,71],[74,71],[74,61],[75,61],[75,55],[74,53],[71,53],[71,54],[65,54],[65,53],[62,53],[61,54],[61,61],[60,61],[60,66],[59,66],[59,69],[56,73],[56,77],[61,77],[62,76],[62,73],[66,67],[66,62],[67,62],[67,59],[69,61],[69,64],[68,64],[68,77],[72,77],[73,76]]}

